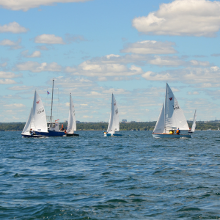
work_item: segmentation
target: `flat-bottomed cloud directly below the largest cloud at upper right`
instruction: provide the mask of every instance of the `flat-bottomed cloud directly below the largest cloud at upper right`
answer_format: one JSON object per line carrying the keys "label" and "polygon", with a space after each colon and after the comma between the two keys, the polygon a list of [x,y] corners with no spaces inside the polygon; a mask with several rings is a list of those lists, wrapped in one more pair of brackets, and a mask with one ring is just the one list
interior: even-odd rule
{"label": "flat-bottomed cloud directly below the largest cloud at upper right", "polygon": [[175,46],[175,43],[172,42],[146,40],[127,44],[121,52],[135,54],[172,54],[176,53],[173,46]]}

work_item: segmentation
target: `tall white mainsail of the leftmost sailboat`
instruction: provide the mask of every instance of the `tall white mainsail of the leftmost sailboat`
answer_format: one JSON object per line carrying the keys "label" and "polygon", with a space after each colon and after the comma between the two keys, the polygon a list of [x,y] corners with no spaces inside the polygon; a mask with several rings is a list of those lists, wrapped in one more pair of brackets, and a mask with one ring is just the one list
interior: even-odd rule
{"label": "tall white mainsail of the leftmost sailboat", "polygon": [[33,101],[35,131],[47,132],[46,112],[40,96],[35,91]]}

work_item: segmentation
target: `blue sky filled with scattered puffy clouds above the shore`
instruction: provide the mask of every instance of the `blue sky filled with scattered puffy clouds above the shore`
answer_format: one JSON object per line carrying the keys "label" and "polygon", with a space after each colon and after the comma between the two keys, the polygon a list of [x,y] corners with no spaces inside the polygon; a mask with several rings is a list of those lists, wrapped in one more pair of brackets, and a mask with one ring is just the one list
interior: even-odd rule
{"label": "blue sky filled with scattered puffy clouds above the shore", "polygon": [[[220,1],[0,0],[0,122],[35,90],[55,119],[156,121],[169,84],[187,120],[220,120]],[[50,94],[47,94],[47,91]]]}

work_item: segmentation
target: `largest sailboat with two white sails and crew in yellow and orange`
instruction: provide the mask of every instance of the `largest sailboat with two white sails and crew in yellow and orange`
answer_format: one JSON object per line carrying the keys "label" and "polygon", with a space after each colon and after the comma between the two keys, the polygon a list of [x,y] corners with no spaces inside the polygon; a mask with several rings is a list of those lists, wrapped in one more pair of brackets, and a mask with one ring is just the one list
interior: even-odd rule
{"label": "largest sailboat with two white sails and crew in yellow and orange", "polygon": [[[181,131],[177,134],[174,131]],[[189,126],[171,88],[166,84],[165,104],[162,106],[160,116],[153,130],[154,138],[191,138]]]}

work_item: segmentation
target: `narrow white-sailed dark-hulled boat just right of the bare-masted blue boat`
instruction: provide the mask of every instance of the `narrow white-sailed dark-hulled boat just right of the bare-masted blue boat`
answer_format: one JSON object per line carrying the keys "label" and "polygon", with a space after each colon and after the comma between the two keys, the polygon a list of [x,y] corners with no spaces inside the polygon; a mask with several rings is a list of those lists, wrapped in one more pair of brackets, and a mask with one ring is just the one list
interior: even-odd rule
{"label": "narrow white-sailed dark-hulled boat just right of the bare-masted blue boat", "polygon": [[69,118],[68,118],[66,136],[79,136],[79,134],[75,134],[74,131],[76,131],[76,117],[75,117],[75,108],[70,93],[70,109],[69,109]]}

